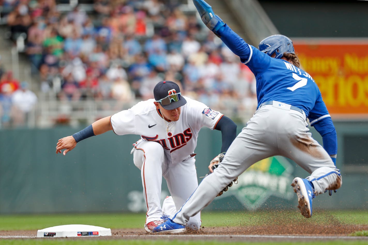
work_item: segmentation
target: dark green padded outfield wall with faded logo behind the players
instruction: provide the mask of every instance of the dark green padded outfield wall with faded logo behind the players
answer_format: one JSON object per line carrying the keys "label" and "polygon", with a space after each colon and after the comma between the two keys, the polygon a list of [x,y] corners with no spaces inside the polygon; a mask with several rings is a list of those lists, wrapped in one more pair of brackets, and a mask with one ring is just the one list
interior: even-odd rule
{"label": "dark green padded outfield wall with faded logo behind the players", "polygon": [[[314,208],[366,209],[368,204],[368,124],[335,123],[343,185],[337,193],[314,199]],[[238,125],[238,131],[241,130]],[[78,129],[0,130],[0,214],[54,212],[142,212],[145,202],[140,171],[134,166],[136,135],[112,131],[78,143],[66,156],[56,143]],[[321,141],[311,129],[314,138]],[[202,129],[196,149],[198,177],[220,151],[219,131]],[[255,164],[208,210],[296,208],[290,181],[308,173],[283,157]],[[199,181],[202,179],[198,178]],[[163,181],[162,199],[169,195]]]}

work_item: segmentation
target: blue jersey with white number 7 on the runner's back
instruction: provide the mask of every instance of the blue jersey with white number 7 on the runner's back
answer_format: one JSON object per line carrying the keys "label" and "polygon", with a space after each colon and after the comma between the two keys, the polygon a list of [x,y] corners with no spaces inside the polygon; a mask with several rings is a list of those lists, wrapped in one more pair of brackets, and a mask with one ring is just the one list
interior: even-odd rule
{"label": "blue jersey with white number 7 on the runner's back", "polygon": [[318,86],[307,72],[285,60],[262,53],[245,43],[227,25],[220,33],[221,40],[255,75],[258,107],[270,100],[291,104],[305,112],[311,125],[330,117]]}

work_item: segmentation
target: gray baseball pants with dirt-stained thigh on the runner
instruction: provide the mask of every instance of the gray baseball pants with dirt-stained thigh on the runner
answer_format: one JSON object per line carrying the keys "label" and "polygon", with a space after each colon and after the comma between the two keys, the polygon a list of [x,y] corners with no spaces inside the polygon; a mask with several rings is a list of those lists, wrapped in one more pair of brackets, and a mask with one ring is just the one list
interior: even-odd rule
{"label": "gray baseball pants with dirt-stained thigh on the runner", "polygon": [[204,178],[172,220],[185,225],[252,164],[275,155],[290,158],[311,174],[307,180],[313,183],[316,195],[338,189],[340,170],[307,126],[304,113],[272,104],[260,107],[231,143],[219,167]]}

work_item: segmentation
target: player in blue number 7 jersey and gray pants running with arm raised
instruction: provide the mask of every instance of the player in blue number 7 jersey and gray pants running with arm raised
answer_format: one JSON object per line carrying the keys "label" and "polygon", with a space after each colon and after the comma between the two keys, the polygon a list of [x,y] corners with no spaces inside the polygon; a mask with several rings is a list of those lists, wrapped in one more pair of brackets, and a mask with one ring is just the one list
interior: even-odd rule
{"label": "player in blue number 7 jersey and gray pants running with arm raised", "polygon": [[[299,68],[293,43],[273,35],[248,45],[213,13],[203,0],[193,0],[202,21],[240,57],[256,77],[258,108],[231,143],[219,167],[209,174],[181,209],[153,232],[183,231],[189,217],[206,207],[217,193],[259,160],[281,155],[310,174],[291,186],[303,216],[312,216],[312,199],[342,184],[336,168],[337,136],[321,93],[312,77]],[[323,147],[312,137],[306,119],[322,135]]]}

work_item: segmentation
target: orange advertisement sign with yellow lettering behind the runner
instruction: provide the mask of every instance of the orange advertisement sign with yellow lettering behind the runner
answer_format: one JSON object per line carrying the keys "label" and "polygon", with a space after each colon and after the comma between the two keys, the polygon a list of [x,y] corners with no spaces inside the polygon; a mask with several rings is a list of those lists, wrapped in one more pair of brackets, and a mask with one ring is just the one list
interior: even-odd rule
{"label": "orange advertisement sign with yellow lettering behind the runner", "polygon": [[368,116],[368,39],[293,40],[333,116]]}

